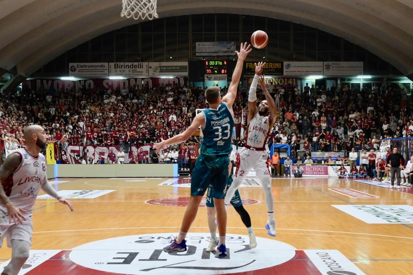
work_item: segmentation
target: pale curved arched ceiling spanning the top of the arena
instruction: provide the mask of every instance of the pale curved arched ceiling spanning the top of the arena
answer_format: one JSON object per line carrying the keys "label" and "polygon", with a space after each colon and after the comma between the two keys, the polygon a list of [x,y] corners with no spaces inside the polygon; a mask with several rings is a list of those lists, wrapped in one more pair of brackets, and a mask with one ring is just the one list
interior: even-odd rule
{"label": "pale curved arched ceiling spanning the top of the arena", "polygon": [[[0,68],[30,76],[96,36],[139,21],[121,0],[0,0]],[[232,13],[304,24],[340,36],[413,74],[411,0],[158,0],[159,17]],[[323,41],[318,41],[323,43]]]}

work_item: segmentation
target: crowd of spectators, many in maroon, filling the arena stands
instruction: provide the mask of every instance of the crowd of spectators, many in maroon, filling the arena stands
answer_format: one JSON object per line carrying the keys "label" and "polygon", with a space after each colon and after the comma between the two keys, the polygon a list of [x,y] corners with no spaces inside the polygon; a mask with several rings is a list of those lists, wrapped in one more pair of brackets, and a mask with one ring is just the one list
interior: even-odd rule
{"label": "crowd of spectators, many in maroon, filling the arena stands", "polygon": [[[50,142],[57,142],[63,149],[68,144],[121,145],[128,152],[131,145],[151,144],[183,132],[195,117],[195,109],[207,108],[204,91],[172,84],[154,88],[123,86],[114,90],[26,88],[0,99],[1,149],[4,153],[5,142],[10,141],[24,146],[25,126],[37,123],[50,135]],[[226,91],[223,87],[221,96]],[[359,90],[347,85],[327,89],[305,85],[301,91],[297,85],[270,83],[269,91],[282,115],[271,129],[268,147],[273,143],[290,143],[295,156],[296,152],[307,149],[310,152],[377,149],[380,138],[413,135],[408,91],[400,86],[374,84],[372,89],[365,86]],[[247,119],[247,95],[246,87],[237,93],[233,106],[236,122]],[[257,98],[265,99],[260,89]],[[197,144],[199,139],[191,137],[189,142]],[[239,147],[245,145],[245,139],[240,137],[234,137],[233,142]],[[176,150],[179,149],[177,146]],[[168,154],[160,154],[158,158],[172,161]],[[2,157],[4,160],[4,154]],[[103,159],[101,163],[122,163],[116,157],[117,160]]]}

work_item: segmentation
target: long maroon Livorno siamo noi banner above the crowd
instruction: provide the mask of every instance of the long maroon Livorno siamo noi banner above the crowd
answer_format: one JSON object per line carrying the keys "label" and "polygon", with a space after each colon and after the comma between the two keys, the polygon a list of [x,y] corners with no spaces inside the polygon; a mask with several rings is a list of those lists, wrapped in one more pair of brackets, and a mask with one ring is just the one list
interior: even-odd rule
{"label": "long maroon Livorno siamo noi banner above the crowd", "polygon": [[137,87],[143,88],[148,85],[149,88],[153,88],[157,85],[166,84],[178,84],[187,85],[187,77],[173,77],[173,78],[159,78],[159,77],[147,77],[147,78],[126,78],[126,79],[109,79],[109,78],[94,78],[89,80],[60,80],[60,79],[28,79],[22,83],[22,89],[30,90],[70,90],[77,91],[79,88],[96,89],[98,87],[111,90],[120,89],[122,87]]}

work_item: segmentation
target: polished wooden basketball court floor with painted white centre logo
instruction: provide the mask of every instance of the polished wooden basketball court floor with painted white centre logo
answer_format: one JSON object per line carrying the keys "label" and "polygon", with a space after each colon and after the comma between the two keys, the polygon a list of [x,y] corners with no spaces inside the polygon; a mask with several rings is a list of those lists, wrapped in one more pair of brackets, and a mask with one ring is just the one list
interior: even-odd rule
{"label": "polished wooden basketball court floor with painted white centre logo", "polygon": [[[271,237],[264,228],[263,190],[258,180],[249,178],[239,191],[258,246],[248,249],[247,230],[230,207],[230,258],[217,259],[205,252],[209,242],[205,207],[199,208],[188,234],[190,249],[174,255],[161,251],[169,236],[179,232],[190,178],[54,180],[50,181],[56,190],[76,193],[71,197],[113,191],[70,199],[73,213],[54,199],[38,198],[31,256],[19,274],[410,274],[413,268],[410,214],[400,216],[403,223],[366,222],[374,216],[366,213],[370,205],[386,213],[411,207],[413,194],[401,192],[408,187],[392,190],[347,179],[274,178],[277,236]],[[356,208],[361,216],[332,205]],[[373,218],[389,216],[380,217]],[[3,264],[10,257],[4,244]]]}

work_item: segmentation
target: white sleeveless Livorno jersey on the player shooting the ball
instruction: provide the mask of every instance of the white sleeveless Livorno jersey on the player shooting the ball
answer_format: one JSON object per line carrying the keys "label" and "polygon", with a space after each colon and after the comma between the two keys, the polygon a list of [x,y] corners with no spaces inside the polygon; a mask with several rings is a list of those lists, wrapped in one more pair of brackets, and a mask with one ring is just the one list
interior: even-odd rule
{"label": "white sleeveless Livorno jersey on the player shooting the ball", "polygon": [[270,118],[258,112],[248,123],[247,145],[254,148],[265,148],[270,133]]}

